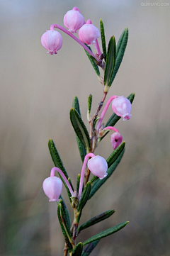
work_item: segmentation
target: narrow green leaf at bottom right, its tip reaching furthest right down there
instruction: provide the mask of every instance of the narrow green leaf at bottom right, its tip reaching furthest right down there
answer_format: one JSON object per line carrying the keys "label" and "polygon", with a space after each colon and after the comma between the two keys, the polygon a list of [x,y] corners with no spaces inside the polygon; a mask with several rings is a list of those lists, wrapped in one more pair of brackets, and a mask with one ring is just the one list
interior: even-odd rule
{"label": "narrow green leaf at bottom right, its tip reaching furthest right down there", "polygon": [[92,236],[91,238],[87,239],[83,245],[87,245],[88,243],[94,242],[98,239],[101,238],[105,238],[108,235],[112,235],[115,232],[118,232],[120,229],[124,228],[127,224],[129,223],[129,221],[125,221],[123,223],[118,224],[117,226],[114,226],[112,228],[108,228],[100,233],[98,233],[97,235]]}

